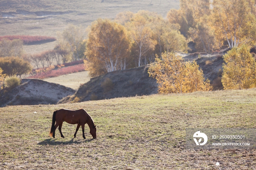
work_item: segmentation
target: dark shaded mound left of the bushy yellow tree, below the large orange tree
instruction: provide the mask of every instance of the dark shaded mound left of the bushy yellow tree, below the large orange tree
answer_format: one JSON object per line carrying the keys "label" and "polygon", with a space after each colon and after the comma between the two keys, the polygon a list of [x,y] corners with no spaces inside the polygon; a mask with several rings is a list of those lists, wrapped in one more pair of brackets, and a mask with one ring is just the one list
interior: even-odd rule
{"label": "dark shaded mound left of the bushy yellow tree, below the large orange tree", "polygon": [[80,86],[74,95],[64,98],[59,103],[156,94],[157,81],[148,77],[148,67],[149,65],[118,70],[91,78],[89,82]]}

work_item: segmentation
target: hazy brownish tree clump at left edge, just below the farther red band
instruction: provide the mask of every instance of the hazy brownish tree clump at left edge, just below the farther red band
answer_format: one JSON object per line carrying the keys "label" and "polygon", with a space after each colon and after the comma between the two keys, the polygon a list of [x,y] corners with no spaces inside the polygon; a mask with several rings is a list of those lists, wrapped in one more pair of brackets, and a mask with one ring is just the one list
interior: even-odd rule
{"label": "hazy brownish tree clump at left edge, just below the farther red band", "polygon": [[21,57],[23,51],[23,41],[21,39],[2,39],[0,41],[0,57]]}

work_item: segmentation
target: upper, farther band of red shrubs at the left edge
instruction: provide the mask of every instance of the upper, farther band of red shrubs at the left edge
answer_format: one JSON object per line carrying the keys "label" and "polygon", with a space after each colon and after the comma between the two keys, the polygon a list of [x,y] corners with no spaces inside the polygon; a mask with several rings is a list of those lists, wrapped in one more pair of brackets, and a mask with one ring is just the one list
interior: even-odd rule
{"label": "upper, farther band of red shrubs at the left edge", "polygon": [[50,36],[30,36],[30,35],[5,35],[0,36],[0,40],[3,38],[13,40],[13,39],[21,39],[23,44],[30,45],[34,43],[46,43],[55,41],[56,38]]}

